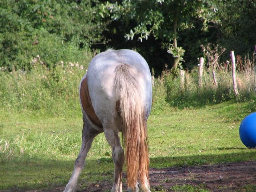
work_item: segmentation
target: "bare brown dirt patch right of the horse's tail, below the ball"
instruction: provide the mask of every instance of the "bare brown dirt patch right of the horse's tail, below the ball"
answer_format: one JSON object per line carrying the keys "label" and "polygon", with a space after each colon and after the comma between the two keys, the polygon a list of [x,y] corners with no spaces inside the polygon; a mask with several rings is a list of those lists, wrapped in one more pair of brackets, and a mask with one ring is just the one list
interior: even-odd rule
{"label": "bare brown dirt patch right of the horse's tail, below the ball", "polygon": [[175,185],[202,185],[209,191],[242,191],[255,185],[256,161],[150,170],[151,187],[170,190]]}

